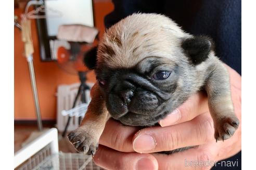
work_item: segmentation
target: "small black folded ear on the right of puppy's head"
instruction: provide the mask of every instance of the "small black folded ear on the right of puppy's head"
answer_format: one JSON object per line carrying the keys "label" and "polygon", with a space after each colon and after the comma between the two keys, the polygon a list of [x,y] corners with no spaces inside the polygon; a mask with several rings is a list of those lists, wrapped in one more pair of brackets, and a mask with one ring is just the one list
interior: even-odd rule
{"label": "small black folded ear on the right of puppy's head", "polygon": [[185,39],[182,48],[192,63],[197,65],[208,58],[210,51],[213,49],[213,41],[206,36],[195,36]]}

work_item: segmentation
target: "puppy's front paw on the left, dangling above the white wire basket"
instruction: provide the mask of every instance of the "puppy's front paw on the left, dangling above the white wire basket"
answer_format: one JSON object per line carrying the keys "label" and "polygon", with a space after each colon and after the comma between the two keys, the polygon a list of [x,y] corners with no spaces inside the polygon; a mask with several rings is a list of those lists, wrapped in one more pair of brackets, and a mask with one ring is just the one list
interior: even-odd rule
{"label": "puppy's front paw on the left, dangling above the white wire basket", "polygon": [[78,129],[68,134],[70,143],[75,149],[87,155],[94,155],[98,149],[98,139],[92,132],[85,128]]}

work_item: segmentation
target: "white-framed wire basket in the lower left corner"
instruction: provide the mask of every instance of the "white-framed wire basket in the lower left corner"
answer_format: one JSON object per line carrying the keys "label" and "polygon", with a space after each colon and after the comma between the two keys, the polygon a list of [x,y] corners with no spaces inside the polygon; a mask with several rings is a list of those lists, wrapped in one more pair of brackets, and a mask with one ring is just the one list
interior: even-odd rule
{"label": "white-framed wire basket in the lower left corner", "polygon": [[57,129],[52,128],[15,153],[15,170],[101,170],[92,156],[58,151]]}

